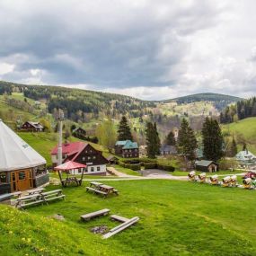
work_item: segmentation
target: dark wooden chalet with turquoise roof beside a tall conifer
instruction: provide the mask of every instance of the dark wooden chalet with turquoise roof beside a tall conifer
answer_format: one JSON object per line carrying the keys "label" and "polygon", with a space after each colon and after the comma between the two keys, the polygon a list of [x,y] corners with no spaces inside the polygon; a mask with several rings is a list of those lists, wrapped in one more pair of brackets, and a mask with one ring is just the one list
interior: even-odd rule
{"label": "dark wooden chalet with turquoise roof beside a tall conifer", "polygon": [[136,158],[139,156],[137,142],[130,140],[119,140],[115,145],[115,154],[123,158]]}

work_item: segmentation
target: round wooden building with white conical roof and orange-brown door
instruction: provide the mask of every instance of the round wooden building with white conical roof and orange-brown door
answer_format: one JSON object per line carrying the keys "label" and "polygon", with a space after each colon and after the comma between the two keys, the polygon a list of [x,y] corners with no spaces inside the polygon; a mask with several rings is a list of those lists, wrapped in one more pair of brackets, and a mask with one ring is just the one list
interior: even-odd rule
{"label": "round wooden building with white conical roof and orange-brown door", "polygon": [[49,182],[46,160],[0,119],[0,194]]}

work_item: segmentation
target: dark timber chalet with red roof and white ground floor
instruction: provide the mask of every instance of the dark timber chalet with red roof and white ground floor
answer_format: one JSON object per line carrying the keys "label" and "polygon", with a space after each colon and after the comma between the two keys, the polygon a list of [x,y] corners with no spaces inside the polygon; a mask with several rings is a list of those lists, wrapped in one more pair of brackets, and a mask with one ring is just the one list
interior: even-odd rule
{"label": "dark timber chalet with red roof and white ground floor", "polygon": [[[102,155],[102,151],[96,150],[89,143],[71,142],[62,145],[63,163],[73,161],[87,166],[84,174],[106,175],[109,161]],[[51,151],[51,160],[54,167],[57,165],[57,146]],[[75,174],[81,174],[81,170],[75,170]]]}

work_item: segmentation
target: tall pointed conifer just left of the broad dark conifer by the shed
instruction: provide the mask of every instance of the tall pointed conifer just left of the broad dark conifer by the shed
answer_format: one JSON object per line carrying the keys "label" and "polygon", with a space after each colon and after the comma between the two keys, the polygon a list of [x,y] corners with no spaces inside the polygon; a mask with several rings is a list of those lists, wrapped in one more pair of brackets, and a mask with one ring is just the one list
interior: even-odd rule
{"label": "tall pointed conifer just left of the broad dark conifer by the shed", "polygon": [[194,160],[196,158],[195,151],[198,146],[197,138],[194,131],[190,128],[186,119],[181,120],[181,128],[178,137],[178,150],[185,158]]}

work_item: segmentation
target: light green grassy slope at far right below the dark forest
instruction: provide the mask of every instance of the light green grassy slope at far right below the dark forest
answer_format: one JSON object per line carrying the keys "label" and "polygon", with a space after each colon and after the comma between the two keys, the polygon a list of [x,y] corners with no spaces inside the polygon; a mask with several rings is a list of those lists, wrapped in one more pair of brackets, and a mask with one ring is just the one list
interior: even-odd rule
{"label": "light green grassy slope at far right below the dark forest", "polygon": [[[243,119],[238,122],[223,126],[223,130],[227,131],[230,136],[236,137],[237,134],[242,134],[246,140],[248,149],[256,154],[256,118]],[[239,146],[242,149],[242,145]]]}

